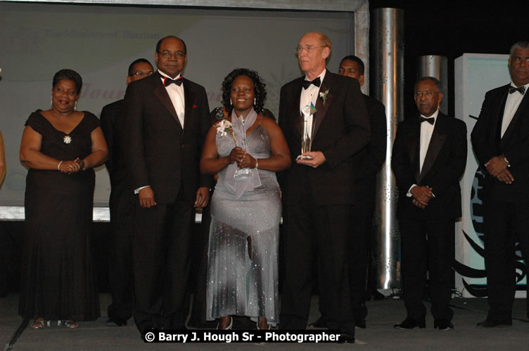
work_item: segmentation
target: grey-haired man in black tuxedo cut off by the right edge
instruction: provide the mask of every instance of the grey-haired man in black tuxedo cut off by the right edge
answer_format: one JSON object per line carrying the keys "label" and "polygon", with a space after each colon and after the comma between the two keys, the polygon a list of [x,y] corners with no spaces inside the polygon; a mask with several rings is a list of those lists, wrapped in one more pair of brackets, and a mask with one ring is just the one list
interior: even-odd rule
{"label": "grey-haired man in black tuxedo cut off by the right edge", "polygon": [[[529,259],[529,42],[509,57],[511,84],[487,91],[472,146],[485,173],[483,227],[489,312],[478,326],[512,324],[515,243]],[[529,95],[529,94],[528,94]]]}

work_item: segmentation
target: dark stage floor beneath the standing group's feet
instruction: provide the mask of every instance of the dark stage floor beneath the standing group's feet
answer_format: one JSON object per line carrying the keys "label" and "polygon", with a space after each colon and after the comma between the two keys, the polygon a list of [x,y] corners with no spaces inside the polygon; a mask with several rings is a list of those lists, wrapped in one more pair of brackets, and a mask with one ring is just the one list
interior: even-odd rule
{"label": "dark stage floor beneath the standing group's feet", "polygon": [[[109,294],[101,294],[101,315],[95,322],[79,322],[78,329],[52,326],[34,330],[27,327],[13,344],[12,350],[339,350],[356,348],[363,350],[528,350],[529,321],[525,312],[525,299],[516,299],[513,326],[481,329],[476,323],[485,319],[487,301],[483,298],[454,298],[452,331],[433,329],[433,318],[426,318],[426,329],[410,331],[394,329],[393,324],[405,317],[402,300],[388,298],[368,301],[367,329],[357,329],[355,345],[269,343],[196,343],[196,344],[148,344],[144,343],[133,320],[128,326],[105,326]],[[22,323],[17,315],[18,294],[10,293],[0,298],[0,347],[6,350],[13,334]],[[429,308],[429,303],[426,303]],[[317,296],[313,298],[310,322],[318,317]]]}

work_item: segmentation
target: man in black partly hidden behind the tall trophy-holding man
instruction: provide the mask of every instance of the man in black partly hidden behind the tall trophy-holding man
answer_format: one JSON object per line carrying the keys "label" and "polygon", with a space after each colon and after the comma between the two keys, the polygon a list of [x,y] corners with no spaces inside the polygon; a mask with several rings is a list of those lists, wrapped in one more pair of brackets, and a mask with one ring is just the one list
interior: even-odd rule
{"label": "man in black partly hidden behind the tall trophy-holding man", "polygon": [[[340,62],[338,74],[355,78],[360,86],[363,86],[364,62],[355,55],[345,56]],[[385,161],[388,135],[384,105],[376,98],[363,95],[371,125],[371,142],[353,159],[355,166],[355,207],[351,217],[352,247],[350,251],[352,307],[355,324],[359,328],[366,327],[366,296],[383,298],[383,295],[376,290],[377,260],[373,260],[375,265],[368,266],[368,263],[371,263],[371,253],[376,252],[372,248],[377,246],[377,238],[371,233],[371,224],[373,223],[375,206],[376,175]],[[367,277],[368,272],[369,277]]]}

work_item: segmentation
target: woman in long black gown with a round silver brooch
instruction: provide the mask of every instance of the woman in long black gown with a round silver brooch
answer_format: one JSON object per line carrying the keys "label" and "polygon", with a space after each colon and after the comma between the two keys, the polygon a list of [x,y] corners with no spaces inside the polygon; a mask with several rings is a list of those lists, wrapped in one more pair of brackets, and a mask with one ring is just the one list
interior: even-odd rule
{"label": "woman in long black gown with a round silver brooch", "polygon": [[82,79],[71,69],[53,77],[51,109],[27,119],[20,160],[26,178],[19,313],[32,328],[99,316],[90,236],[95,175],[108,149],[99,121],[77,111]]}

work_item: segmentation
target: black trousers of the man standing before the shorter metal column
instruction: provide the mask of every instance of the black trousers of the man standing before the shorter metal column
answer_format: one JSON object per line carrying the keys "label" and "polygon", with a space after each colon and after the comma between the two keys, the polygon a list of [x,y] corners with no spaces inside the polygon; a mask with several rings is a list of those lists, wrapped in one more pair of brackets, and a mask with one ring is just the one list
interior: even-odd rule
{"label": "black trousers of the man standing before the shorter metal column", "polygon": [[401,219],[402,287],[407,317],[422,322],[426,270],[430,278],[431,312],[434,319],[452,320],[452,238],[454,219]]}

